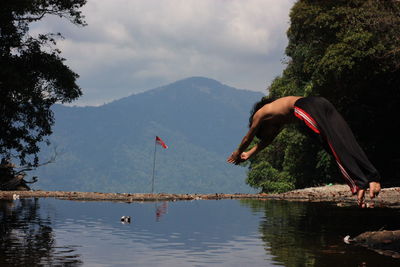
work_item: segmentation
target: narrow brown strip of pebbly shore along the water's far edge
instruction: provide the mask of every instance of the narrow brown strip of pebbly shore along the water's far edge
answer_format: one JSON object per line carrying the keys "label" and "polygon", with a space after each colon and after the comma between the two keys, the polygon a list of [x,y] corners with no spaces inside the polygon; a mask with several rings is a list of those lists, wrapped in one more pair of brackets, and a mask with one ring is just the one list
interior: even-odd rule
{"label": "narrow brown strip of pebbly shore along the water's far edge", "polygon": [[[370,200],[367,191],[366,202],[377,207],[400,208],[400,187],[383,188],[380,195]],[[260,200],[287,200],[308,202],[333,202],[337,206],[356,206],[356,197],[353,196],[347,185],[325,185],[297,189],[280,194],[168,194],[168,193],[100,193],[100,192],[66,192],[66,191],[0,191],[0,199],[20,198],[57,198],[75,201],[118,201],[118,202],[156,202],[179,200],[219,200],[219,199],[260,199]]]}

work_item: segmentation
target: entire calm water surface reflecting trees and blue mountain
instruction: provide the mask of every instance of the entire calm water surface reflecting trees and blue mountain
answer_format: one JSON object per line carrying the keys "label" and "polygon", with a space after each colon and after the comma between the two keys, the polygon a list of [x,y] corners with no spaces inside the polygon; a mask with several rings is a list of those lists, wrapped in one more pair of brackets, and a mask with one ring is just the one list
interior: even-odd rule
{"label": "entire calm water surface reflecting trees and blue mountain", "polygon": [[0,266],[400,266],[343,242],[346,235],[400,229],[396,209],[21,199],[0,200],[0,223]]}

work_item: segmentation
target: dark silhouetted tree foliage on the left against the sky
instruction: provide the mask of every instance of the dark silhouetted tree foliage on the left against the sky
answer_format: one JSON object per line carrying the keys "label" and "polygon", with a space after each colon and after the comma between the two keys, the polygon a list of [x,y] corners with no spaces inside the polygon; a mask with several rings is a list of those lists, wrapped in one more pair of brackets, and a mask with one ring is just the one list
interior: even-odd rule
{"label": "dark silhouetted tree foliage on the left against the sky", "polygon": [[[51,134],[51,105],[82,93],[78,75],[56,48],[59,33],[32,36],[29,25],[47,15],[85,25],[86,0],[2,0],[0,2],[0,157],[38,165],[38,143]],[[33,159],[29,158],[33,155]]]}

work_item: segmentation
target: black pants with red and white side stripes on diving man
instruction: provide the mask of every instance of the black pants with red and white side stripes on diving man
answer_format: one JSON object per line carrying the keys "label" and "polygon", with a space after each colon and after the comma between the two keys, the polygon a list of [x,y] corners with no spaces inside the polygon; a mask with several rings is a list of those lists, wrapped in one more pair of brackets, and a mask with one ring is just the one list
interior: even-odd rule
{"label": "black pants with red and white side stripes on diving man", "polygon": [[296,101],[296,117],[327,142],[351,192],[366,189],[380,176],[357,143],[353,132],[335,107],[323,97],[304,97]]}

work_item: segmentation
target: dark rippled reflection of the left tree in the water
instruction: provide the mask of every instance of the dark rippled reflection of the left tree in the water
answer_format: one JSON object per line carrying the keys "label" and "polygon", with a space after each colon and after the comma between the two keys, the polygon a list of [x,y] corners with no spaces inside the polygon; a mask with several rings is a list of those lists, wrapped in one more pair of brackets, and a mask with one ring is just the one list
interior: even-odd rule
{"label": "dark rippled reflection of the left tree in the water", "polygon": [[71,253],[74,249],[60,253],[50,218],[40,216],[38,199],[0,201],[0,235],[0,266],[82,264],[79,255]]}

